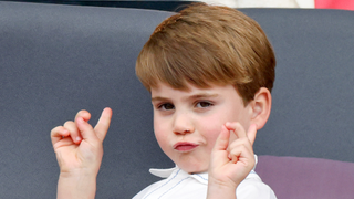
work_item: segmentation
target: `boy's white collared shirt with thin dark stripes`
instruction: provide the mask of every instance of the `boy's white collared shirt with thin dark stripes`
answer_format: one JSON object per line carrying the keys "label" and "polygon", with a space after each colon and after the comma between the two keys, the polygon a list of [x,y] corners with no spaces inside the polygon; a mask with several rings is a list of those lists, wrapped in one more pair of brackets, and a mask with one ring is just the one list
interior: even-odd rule
{"label": "boy's white collared shirt with thin dark stripes", "polygon": [[[256,158],[257,160],[257,158]],[[153,175],[166,178],[138,192],[133,199],[206,199],[208,174],[188,174],[177,166],[170,169],[150,169]],[[252,170],[236,190],[237,199],[277,199],[273,190]]]}

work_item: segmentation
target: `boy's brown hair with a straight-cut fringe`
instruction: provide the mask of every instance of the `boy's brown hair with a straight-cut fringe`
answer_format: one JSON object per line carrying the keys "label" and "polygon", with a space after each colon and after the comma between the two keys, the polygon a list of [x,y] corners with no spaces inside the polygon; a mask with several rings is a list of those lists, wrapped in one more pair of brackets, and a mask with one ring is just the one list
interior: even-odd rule
{"label": "boy's brown hair with a straight-cut fringe", "polygon": [[275,56],[261,27],[242,12],[192,4],[163,21],[144,45],[136,74],[150,91],[231,84],[244,105],[274,82]]}

